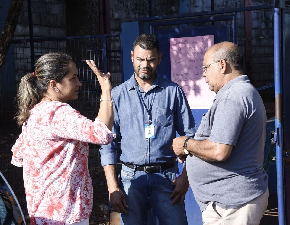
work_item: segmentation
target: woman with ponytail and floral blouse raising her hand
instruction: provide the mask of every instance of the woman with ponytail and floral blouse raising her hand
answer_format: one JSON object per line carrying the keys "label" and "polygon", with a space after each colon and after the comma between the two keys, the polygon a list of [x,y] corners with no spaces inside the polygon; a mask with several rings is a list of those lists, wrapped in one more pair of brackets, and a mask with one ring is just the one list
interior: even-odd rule
{"label": "woman with ponytail and floral blouse raising her hand", "polygon": [[82,86],[69,55],[44,54],[35,72],[20,81],[15,118],[22,133],[12,147],[12,164],[23,167],[30,225],[89,224],[93,189],[87,143],[108,144],[115,134],[110,73],[86,62],[102,89],[95,121],[66,104],[78,98]]}

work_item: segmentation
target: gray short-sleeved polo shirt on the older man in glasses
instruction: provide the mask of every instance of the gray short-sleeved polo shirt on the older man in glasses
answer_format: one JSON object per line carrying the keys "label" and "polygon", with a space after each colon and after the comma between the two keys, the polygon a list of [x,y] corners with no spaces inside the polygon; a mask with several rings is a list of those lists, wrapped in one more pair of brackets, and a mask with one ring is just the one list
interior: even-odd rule
{"label": "gray short-sleeved polo shirt on the older man in glasses", "polygon": [[237,208],[266,191],[268,176],[262,166],[266,122],[261,96],[247,75],[218,91],[194,139],[234,148],[223,162],[187,157],[189,183],[201,211],[211,201],[224,209]]}

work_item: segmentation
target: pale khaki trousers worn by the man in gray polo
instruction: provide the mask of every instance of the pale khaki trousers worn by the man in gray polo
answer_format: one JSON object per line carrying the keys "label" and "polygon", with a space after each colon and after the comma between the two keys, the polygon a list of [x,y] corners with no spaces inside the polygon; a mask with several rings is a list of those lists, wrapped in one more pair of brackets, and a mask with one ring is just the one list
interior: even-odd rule
{"label": "pale khaki trousers worn by the man in gray polo", "polygon": [[223,209],[211,202],[202,212],[204,225],[259,225],[268,205],[268,188],[260,197],[236,209]]}

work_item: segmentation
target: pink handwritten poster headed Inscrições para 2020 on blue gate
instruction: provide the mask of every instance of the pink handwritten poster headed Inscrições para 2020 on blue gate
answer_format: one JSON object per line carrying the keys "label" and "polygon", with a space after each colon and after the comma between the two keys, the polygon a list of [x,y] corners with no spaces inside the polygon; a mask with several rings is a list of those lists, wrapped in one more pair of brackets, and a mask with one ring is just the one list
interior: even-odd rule
{"label": "pink handwritten poster headed Inscri\u00e7\u00f5es para 2020 on blue gate", "polygon": [[182,87],[191,109],[209,109],[214,100],[201,68],[212,45],[214,35],[170,39],[171,80]]}

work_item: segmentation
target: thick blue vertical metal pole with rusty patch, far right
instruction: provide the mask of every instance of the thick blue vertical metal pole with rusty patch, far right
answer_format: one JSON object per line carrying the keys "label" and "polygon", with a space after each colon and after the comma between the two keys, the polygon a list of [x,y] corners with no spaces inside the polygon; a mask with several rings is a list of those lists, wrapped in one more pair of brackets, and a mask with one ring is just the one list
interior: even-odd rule
{"label": "thick blue vertical metal pole with rusty patch, far right", "polygon": [[282,148],[282,93],[281,93],[281,38],[280,12],[274,8],[274,76],[275,76],[275,122],[276,122],[276,158],[277,158],[277,198],[279,225],[285,224],[283,148]]}

